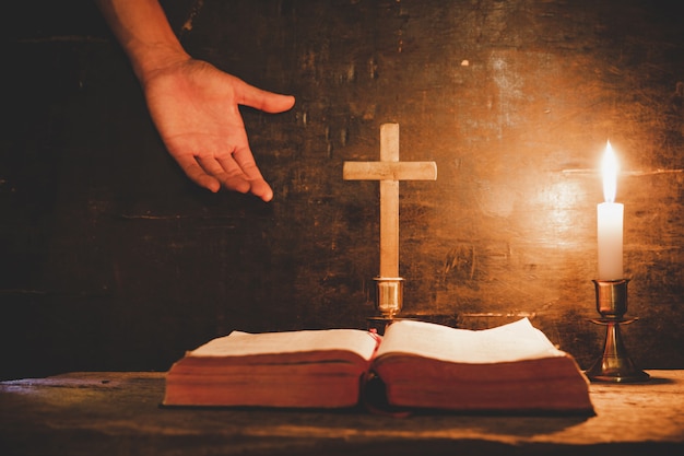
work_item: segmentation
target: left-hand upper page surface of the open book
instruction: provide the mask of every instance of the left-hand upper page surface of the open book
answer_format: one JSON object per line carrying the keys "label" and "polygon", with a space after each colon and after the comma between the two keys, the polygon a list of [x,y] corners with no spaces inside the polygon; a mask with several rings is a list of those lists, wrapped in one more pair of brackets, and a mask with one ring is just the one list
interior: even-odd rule
{"label": "left-hand upper page surface of the open book", "polygon": [[369,360],[376,337],[359,329],[321,329],[249,334],[233,331],[209,341],[188,353],[189,356],[245,356],[295,353],[314,350],[346,350]]}

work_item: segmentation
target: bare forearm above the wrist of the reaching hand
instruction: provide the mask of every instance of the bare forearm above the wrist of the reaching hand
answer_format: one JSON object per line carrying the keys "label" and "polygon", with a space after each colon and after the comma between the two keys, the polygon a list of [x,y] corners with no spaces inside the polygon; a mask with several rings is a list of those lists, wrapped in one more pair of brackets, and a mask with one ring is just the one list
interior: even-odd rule
{"label": "bare forearm above the wrist of the reaching hand", "polygon": [[189,59],[157,0],[95,0],[144,84],[156,71]]}

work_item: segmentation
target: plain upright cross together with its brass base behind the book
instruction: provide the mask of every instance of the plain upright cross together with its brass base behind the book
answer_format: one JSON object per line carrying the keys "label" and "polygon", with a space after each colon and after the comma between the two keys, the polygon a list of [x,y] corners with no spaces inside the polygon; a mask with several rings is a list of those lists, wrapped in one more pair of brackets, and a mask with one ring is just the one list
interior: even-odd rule
{"label": "plain upright cross together with its brass base behind the book", "polygon": [[435,162],[399,161],[399,124],[380,126],[379,162],[344,162],[344,180],[380,182],[380,276],[377,277],[378,311],[392,318],[402,306],[399,277],[399,180],[436,180]]}

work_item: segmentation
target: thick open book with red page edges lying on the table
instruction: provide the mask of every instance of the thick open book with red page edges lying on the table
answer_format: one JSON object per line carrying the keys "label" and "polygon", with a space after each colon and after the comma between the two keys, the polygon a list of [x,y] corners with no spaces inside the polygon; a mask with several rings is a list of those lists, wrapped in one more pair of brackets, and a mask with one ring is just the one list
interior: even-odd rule
{"label": "thick open book with red page edges lying on the table", "polygon": [[[369,378],[382,387],[365,388]],[[369,390],[393,409],[593,411],[575,360],[527,318],[484,330],[397,320],[382,337],[234,331],[172,366],[163,404],[343,408],[366,401]]]}

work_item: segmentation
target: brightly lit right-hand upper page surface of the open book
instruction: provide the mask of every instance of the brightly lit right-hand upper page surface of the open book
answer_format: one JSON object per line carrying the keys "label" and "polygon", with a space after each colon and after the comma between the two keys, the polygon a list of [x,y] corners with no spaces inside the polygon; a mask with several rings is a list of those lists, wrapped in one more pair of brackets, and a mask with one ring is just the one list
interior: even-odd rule
{"label": "brightly lit right-hand upper page surface of the open book", "polygon": [[399,320],[387,328],[377,356],[390,352],[471,364],[565,355],[527,318],[482,330]]}

